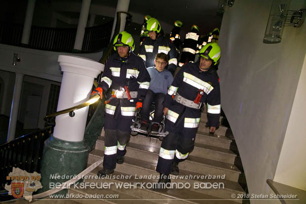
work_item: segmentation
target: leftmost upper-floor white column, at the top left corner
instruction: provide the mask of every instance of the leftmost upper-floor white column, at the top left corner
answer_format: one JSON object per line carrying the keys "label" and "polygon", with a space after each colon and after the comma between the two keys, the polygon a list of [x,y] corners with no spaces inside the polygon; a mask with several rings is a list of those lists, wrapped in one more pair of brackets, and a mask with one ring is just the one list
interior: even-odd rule
{"label": "leftmost upper-floor white column, at the top left corner", "polygon": [[25,23],[22,31],[22,44],[29,44],[29,38],[32,27],[32,19],[34,14],[35,0],[28,0],[27,12],[25,17]]}

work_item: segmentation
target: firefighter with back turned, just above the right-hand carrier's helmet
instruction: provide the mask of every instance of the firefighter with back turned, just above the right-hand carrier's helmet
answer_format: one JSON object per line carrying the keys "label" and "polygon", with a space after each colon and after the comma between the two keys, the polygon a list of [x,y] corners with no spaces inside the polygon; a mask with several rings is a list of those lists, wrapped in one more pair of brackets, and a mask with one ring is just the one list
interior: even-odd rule
{"label": "firefighter with back turned, just above the right-hand carrier's helmet", "polygon": [[195,52],[198,47],[199,41],[199,28],[197,25],[191,27],[191,32],[186,34],[183,42],[183,50],[179,63],[179,67],[182,67],[186,63],[194,62]]}

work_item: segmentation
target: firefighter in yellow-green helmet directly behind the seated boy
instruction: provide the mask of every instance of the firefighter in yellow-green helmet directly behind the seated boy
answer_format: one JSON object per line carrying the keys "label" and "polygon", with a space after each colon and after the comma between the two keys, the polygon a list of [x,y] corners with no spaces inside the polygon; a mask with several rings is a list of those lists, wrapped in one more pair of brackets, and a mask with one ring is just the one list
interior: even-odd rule
{"label": "firefighter in yellow-green helmet directly behind the seated boy", "polygon": [[172,74],[177,68],[178,52],[171,40],[161,34],[161,26],[155,18],[150,18],[147,21],[146,29],[149,32],[149,37],[145,38],[140,46],[139,57],[145,62],[147,68],[154,67],[154,60],[157,53],[165,53],[169,57],[168,67]]}

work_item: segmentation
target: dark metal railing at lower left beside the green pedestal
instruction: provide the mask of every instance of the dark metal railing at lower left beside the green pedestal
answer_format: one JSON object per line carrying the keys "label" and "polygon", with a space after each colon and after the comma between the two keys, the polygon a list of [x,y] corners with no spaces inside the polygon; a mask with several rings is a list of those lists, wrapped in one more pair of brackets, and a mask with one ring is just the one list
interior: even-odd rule
{"label": "dark metal railing at lower left beside the green pedestal", "polygon": [[18,137],[0,145],[0,189],[4,189],[6,176],[13,167],[28,172],[40,172],[43,142],[53,132],[51,126]]}

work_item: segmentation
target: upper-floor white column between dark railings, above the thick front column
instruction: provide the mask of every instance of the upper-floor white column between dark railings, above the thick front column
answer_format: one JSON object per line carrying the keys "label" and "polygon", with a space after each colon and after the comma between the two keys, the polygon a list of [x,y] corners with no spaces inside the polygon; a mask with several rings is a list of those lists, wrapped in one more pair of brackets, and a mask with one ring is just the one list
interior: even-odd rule
{"label": "upper-floor white column between dark railings, above the thick front column", "polygon": [[81,12],[79,14],[77,30],[76,30],[76,41],[74,46],[74,49],[76,50],[82,49],[85,28],[87,25],[88,13],[90,8],[90,1],[91,0],[82,0],[82,7],[81,7]]}

